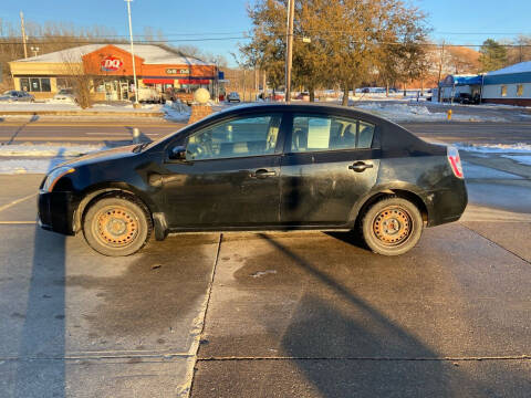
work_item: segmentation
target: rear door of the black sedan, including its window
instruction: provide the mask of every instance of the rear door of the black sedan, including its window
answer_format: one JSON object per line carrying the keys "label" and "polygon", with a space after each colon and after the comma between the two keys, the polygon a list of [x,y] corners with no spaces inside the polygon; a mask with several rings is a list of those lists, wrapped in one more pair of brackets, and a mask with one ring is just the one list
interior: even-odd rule
{"label": "rear door of the black sedan, including its window", "polygon": [[281,163],[282,224],[345,224],[376,182],[377,126],[321,114],[292,114],[290,125]]}

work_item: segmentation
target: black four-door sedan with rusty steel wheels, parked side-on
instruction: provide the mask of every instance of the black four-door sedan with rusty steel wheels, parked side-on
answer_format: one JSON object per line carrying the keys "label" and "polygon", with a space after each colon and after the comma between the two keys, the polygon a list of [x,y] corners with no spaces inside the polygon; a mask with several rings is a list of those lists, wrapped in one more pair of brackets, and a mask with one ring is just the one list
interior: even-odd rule
{"label": "black four-door sedan with rusty steel wheels, parked side-on", "polygon": [[371,250],[412,249],[467,206],[459,154],[354,108],[250,105],[162,140],[91,154],[42,181],[40,223],[128,255],[154,233],[361,232]]}

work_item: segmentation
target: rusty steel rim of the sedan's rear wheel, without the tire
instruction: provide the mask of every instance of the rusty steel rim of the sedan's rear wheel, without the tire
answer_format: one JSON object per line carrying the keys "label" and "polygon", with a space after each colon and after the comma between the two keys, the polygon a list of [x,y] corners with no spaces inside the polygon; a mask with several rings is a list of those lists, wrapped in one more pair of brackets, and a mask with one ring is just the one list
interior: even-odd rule
{"label": "rusty steel rim of the sedan's rear wheel, without the tire", "polygon": [[381,243],[388,247],[399,245],[412,234],[412,217],[400,207],[387,207],[374,218],[373,231]]}

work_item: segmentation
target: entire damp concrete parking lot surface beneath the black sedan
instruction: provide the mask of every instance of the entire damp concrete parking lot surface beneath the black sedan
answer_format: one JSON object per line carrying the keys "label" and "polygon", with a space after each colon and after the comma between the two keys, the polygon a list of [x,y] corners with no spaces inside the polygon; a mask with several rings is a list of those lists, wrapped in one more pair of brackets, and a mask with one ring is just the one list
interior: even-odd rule
{"label": "entire damp concrete parking lot surface beneath the black sedan", "polygon": [[499,180],[400,258],[305,232],[110,259],[38,228],[41,178],[0,176],[2,397],[529,397],[531,210],[481,202]]}

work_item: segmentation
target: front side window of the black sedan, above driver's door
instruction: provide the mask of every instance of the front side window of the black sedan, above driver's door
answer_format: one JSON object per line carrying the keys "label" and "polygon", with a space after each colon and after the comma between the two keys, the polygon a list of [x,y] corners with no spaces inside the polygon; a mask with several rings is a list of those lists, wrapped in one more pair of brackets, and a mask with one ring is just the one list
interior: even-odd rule
{"label": "front side window of the black sedan, above driver's door", "polygon": [[281,115],[239,117],[207,127],[188,138],[187,160],[274,154]]}

